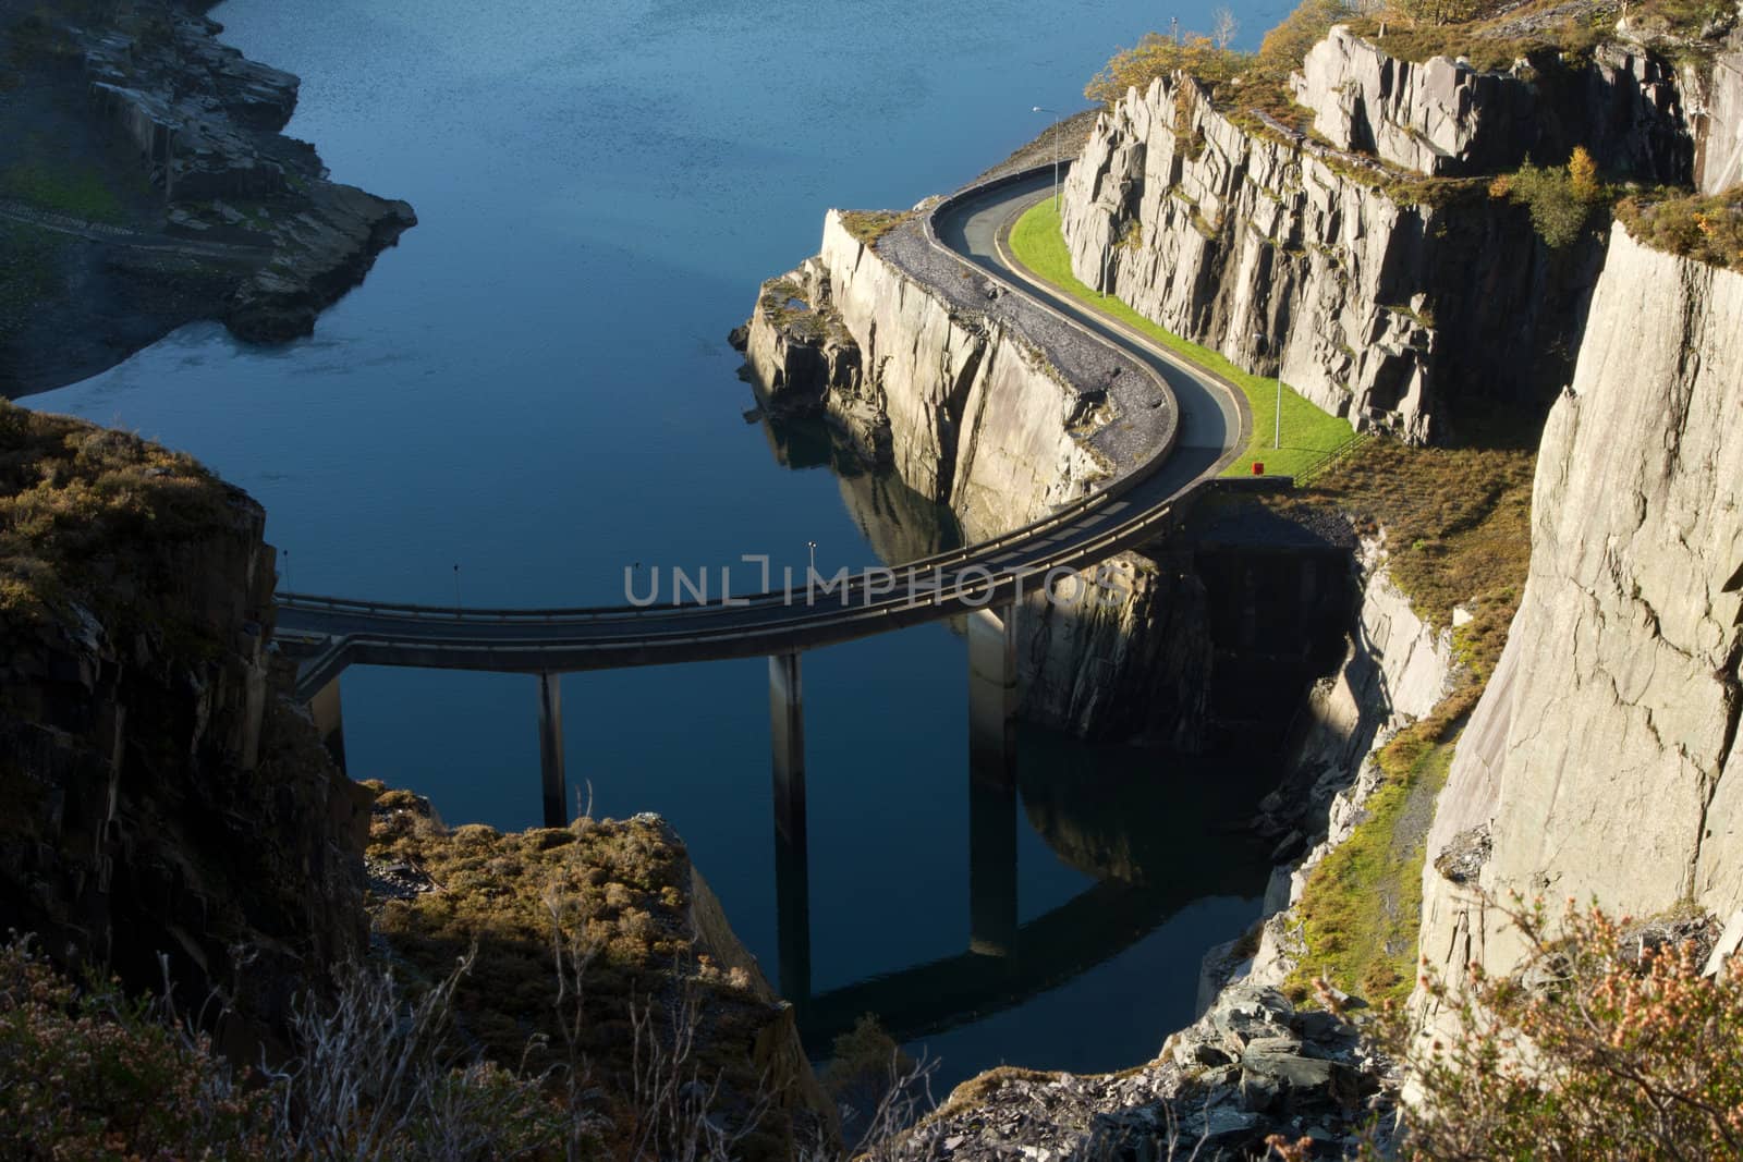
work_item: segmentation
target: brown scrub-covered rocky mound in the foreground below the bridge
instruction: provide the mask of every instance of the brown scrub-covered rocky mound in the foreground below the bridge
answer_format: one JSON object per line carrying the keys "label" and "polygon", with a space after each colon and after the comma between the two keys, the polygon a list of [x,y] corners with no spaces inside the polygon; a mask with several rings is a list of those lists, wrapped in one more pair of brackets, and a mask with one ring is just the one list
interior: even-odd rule
{"label": "brown scrub-covered rocky mound in the foreground below the bridge", "polygon": [[[411,899],[375,901],[375,930],[394,956],[434,983],[476,949],[472,970],[453,991],[457,1030],[509,1068],[584,1063],[605,1122],[624,1134],[607,1141],[612,1155],[633,1153],[627,1136],[645,1106],[636,1094],[636,1047],[652,1035],[638,1035],[650,1003],[655,1026],[659,1012],[694,1003],[697,1075],[718,1077],[729,1113],[756,1105],[765,1078],[751,1047],[777,1012],[743,970],[697,956],[688,855],[659,821],[450,831],[417,796],[385,791],[368,855],[410,864],[434,882],[434,890]],[[558,951],[579,974],[579,988],[560,981]],[[547,1051],[528,1056],[530,1040]],[[783,1105],[790,1106],[777,1101],[755,1111],[760,1124],[737,1145],[743,1157],[788,1157],[793,1127]]]}

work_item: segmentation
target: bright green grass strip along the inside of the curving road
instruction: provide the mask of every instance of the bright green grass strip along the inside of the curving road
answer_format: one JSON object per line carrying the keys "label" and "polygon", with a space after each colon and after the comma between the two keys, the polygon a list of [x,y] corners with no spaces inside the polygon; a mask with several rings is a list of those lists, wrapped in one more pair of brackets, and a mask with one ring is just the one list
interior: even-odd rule
{"label": "bright green grass strip along the inside of the curving road", "polygon": [[1269,474],[1293,476],[1319,463],[1353,436],[1349,423],[1319,411],[1319,408],[1285,385],[1283,446],[1272,448],[1272,425],[1278,415],[1278,382],[1241,371],[1208,347],[1199,347],[1171,331],[1164,331],[1119,298],[1096,294],[1086,284],[1079,282],[1077,275],[1072,274],[1065,235],[1060,232],[1060,214],[1053,209],[1051,200],[1037,202],[1016,221],[1016,226],[1011,228],[1011,253],[1030,274],[1044,282],[1051,282],[1072,298],[1142,331],[1182,359],[1213,371],[1241,388],[1248,406],[1253,409],[1253,437],[1241,456],[1224,469],[1224,476],[1246,476],[1251,472],[1253,460],[1262,460]]}

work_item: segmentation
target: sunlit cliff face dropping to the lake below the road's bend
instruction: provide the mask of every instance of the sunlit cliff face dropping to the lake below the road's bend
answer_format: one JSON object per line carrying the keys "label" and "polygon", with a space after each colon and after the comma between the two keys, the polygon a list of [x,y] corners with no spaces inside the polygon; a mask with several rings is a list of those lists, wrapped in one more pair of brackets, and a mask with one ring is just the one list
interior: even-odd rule
{"label": "sunlit cliff face dropping to the lake below the road's bend", "polygon": [[830,211],[823,251],[763,287],[746,357],[770,406],[826,415],[865,456],[948,503],[969,540],[1110,476],[1093,401],[1006,322],[955,310]]}

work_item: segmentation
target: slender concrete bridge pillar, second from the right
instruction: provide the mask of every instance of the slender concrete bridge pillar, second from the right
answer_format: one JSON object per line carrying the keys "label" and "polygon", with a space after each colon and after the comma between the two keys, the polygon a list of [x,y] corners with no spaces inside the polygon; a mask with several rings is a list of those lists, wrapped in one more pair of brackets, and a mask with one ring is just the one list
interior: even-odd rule
{"label": "slender concrete bridge pillar, second from the right", "polygon": [[769,659],[774,772],[774,892],[781,995],[810,998],[810,855],[805,838],[805,695],[798,653]]}

